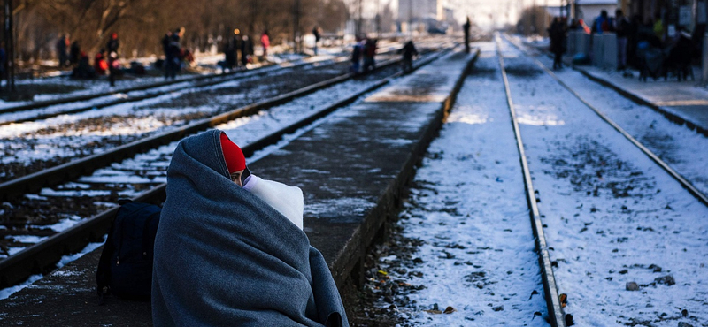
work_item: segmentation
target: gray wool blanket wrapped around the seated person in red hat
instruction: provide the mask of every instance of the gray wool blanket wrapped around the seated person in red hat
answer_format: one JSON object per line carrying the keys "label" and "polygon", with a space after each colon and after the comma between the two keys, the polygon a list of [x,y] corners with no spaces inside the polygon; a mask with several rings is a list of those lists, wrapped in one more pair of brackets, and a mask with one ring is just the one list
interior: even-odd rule
{"label": "gray wool blanket wrapped around the seated person in red hat", "polygon": [[327,263],[229,179],[219,130],[174,150],[155,240],[155,326],[349,326]]}

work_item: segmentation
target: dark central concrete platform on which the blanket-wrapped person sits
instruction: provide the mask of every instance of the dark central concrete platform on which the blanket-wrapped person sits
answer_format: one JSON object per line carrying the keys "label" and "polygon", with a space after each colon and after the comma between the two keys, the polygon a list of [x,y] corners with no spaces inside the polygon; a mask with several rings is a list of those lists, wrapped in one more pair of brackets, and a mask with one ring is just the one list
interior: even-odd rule
{"label": "dark central concrete platform on which the blanket-wrapped person sits", "polygon": [[[472,59],[462,52],[438,59],[250,164],[263,178],[303,189],[304,230],[337,285],[360,278],[366,247],[396,214]],[[0,325],[150,326],[148,302],[109,297],[97,305],[101,249],[0,302]]]}

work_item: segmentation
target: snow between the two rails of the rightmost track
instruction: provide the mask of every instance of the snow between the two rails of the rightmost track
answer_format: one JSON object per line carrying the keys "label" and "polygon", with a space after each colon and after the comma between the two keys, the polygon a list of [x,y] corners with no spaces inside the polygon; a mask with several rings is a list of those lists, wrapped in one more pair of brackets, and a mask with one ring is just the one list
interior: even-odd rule
{"label": "snow between the two rails of the rightmost track", "polygon": [[582,326],[708,323],[708,208],[532,59],[504,54],[566,313]]}

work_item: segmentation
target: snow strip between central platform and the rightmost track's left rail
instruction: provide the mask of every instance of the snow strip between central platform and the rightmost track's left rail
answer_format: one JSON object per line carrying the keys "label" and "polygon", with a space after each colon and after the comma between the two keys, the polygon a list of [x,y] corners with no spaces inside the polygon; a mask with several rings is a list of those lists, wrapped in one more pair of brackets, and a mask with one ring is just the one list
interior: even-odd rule
{"label": "snow strip between central platform and the rightmost track's left rail", "polygon": [[[389,278],[420,288],[399,315],[414,325],[546,326],[524,184],[493,43],[465,81],[416,173],[398,224],[421,245]],[[378,291],[376,291],[378,292]],[[381,306],[389,303],[380,302]],[[446,309],[454,312],[443,313]]]}

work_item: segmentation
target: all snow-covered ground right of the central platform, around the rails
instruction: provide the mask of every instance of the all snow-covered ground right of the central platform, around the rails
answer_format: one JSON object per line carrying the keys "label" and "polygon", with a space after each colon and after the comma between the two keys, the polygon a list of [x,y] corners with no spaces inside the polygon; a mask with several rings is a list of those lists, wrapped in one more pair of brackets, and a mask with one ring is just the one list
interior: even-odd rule
{"label": "all snow-covered ground right of the central platform, around the rails", "polygon": [[[547,324],[495,45],[476,46],[394,228],[401,244],[380,247],[367,272],[377,306],[404,325]],[[708,209],[533,59],[502,51],[565,313],[578,326],[708,325]],[[578,72],[558,75],[694,184],[705,178],[704,137]]]}

